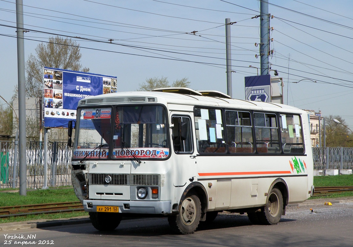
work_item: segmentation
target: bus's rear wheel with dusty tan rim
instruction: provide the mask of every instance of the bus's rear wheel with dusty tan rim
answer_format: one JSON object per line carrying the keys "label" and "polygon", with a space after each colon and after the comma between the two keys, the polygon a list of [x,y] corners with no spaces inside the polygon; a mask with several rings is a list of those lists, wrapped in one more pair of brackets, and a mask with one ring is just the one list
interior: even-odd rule
{"label": "bus's rear wheel with dusty tan rim", "polygon": [[265,207],[261,209],[259,218],[264,225],[275,225],[280,222],[283,212],[283,196],[279,189],[271,189]]}

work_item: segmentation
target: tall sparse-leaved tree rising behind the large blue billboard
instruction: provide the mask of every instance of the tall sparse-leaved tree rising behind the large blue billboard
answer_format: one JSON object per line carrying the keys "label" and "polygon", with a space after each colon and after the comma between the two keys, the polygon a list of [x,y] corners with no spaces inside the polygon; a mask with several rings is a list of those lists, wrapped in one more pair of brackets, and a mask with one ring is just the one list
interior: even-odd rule
{"label": "tall sparse-leaved tree rising behind the large blue billboard", "polygon": [[[76,41],[60,36],[50,37],[48,43],[40,43],[26,62],[26,97],[38,97],[43,90],[43,67],[88,72],[82,67],[82,54]],[[18,92],[17,89],[15,91]],[[15,92],[16,93],[16,92]]]}

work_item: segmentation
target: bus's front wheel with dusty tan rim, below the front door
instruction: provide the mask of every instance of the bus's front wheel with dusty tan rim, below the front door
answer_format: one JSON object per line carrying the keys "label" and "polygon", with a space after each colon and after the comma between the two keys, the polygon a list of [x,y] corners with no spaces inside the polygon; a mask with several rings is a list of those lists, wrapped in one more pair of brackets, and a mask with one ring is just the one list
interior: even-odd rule
{"label": "bus's front wheel with dusty tan rim, below the front door", "polygon": [[201,218],[201,201],[195,194],[187,195],[181,202],[177,215],[169,216],[170,227],[181,234],[192,234],[196,231]]}

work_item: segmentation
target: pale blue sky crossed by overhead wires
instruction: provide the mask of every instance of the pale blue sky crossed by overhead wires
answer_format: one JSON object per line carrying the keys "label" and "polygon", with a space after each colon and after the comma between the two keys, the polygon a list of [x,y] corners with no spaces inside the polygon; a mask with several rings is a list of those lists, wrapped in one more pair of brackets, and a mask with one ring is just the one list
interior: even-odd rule
{"label": "pale blue sky crossed by overhead wires", "polygon": [[[7,101],[18,84],[15,2],[0,0],[0,95]],[[268,2],[270,75],[277,70],[283,78],[284,103],[321,111],[322,117],[341,116],[352,129],[353,2]],[[49,37],[71,36],[81,47],[82,66],[117,76],[120,92],[163,76],[170,84],[186,77],[192,89],[227,93],[226,18],[236,22],[233,98],[245,99],[244,77],[260,73],[255,45],[260,18],[252,18],[260,12],[259,0],[23,0],[23,5],[24,29],[31,29],[24,34],[26,60]]]}

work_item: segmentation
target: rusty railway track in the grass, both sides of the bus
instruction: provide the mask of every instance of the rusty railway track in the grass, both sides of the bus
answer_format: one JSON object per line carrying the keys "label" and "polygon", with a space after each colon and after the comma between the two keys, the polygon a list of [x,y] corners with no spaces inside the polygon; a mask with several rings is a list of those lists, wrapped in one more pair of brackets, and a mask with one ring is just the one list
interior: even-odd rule
{"label": "rusty railway track in the grass, both sides of the bus", "polygon": [[[315,187],[314,196],[341,193],[344,191],[353,192],[353,186]],[[0,207],[0,218],[73,211],[83,211],[82,203],[74,201]]]}

